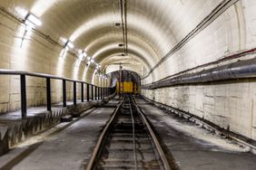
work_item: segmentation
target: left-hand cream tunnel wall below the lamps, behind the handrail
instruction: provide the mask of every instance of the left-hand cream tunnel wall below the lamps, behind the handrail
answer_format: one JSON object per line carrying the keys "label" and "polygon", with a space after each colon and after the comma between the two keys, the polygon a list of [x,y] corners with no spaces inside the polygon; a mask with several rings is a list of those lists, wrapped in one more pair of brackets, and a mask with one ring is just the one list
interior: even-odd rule
{"label": "left-hand cream tunnel wall below the lamps, behind the handrail", "polygon": [[[25,37],[21,45],[23,36],[23,26],[14,18],[0,13],[0,68],[17,71],[31,71],[46,74],[58,75],[74,80],[84,80],[88,83],[103,86],[103,80],[99,77],[86,79],[94,74],[92,67],[87,67],[82,62],[77,66],[77,57],[66,52],[64,58],[60,57],[63,47],[54,42],[49,42],[38,35],[31,33]],[[0,113],[9,110],[20,109],[20,78],[19,76],[0,75]],[[109,83],[109,80],[107,80]],[[62,81],[52,80],[52,102],[62,102]],[[86,87],[84,87],[86,88]],[[42,106],[46,102],[46,80],[41,78],[27,77],[27,105],[30,107]],[[73,99],[73,83],[66,84],[66,98]],[[77,99],[81,99],[81,86],[77,85]],[[86,90],[86,89],[85,89]],[[85,94],[86,97],[86,94]]]}

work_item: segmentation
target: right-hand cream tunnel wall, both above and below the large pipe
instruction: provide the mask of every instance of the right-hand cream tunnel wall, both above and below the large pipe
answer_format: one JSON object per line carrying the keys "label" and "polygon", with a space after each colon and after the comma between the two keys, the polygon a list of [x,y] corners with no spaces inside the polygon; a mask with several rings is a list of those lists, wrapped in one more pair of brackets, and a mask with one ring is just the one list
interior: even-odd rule
{"label": "right-hand cream tunnel wall, both above and below the large pipe", "polygon": [[[255,48],[255,5],[253,1],[239,1],[231,5],[212,24],[204,28],[155,70],[161,72],[157,76],[158,80],[223,59],[233,53]],[[249,54],[230,62],[253,57],[255,54]],[[170,67],[171,63],[175,64]],[[206,68],[202,67],[201,71]],[[220,127],[243,136],[256,139],[255,85],[254,79],[232,80],[143,90],[143,95],[210,120]]]}

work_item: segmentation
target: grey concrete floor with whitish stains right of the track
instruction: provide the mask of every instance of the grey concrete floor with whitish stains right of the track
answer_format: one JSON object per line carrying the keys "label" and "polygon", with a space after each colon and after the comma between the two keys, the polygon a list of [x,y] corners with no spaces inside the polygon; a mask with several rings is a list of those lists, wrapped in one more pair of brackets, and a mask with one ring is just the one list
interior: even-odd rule
{"label": "grey concrete floor with whitish stains right of the track", "polygon": [[192,122],[137,100],[182,170],[255,170],[256,156]]}

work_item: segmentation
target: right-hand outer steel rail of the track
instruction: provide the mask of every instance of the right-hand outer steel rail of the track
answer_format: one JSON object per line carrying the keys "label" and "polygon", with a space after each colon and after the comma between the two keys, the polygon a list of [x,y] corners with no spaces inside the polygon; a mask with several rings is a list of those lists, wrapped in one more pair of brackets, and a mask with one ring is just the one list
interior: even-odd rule
{"label": "right-hand outer steel rail of the track", "polygon": [[[133,99],[132,99],[133,100]],[[145,126],[148,128],[149,132],[150,132],[150,135],[151,137],[153,138],[153,143],[162,159],[162,164],[165,168],[165,170],[172,170],[171,166],[169,165],[169,162],[167,160],[167,157],[165,156],[163,150],[162,150],[162,146],[160,145],[159,141],[157,140],[157,137],[155,136],[155,134],[153,133],[153,129],[152,127],[150,126],[147,118],[145,118],[144,114],[143,114],[143,111],[138,107],[138,105],[135,103],[135,101],[133,100],[133,104],[134,106],[136,107],[138,113],[140,113],[142,119],[143,119],[143,122],[145,124]]]}

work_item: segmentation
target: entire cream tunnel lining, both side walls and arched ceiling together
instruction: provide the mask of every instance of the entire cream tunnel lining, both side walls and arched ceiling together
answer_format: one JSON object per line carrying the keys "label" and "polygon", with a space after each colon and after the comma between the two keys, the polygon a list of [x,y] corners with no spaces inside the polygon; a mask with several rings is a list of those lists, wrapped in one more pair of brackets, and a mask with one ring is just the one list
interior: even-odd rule
{"label": "entire cream tunnel lining, both side walls and arched ceiling together", "polygon": [[[128,70],[130,67],[142,77],[146,76],[167,52],[170,52],[176,44],[181,42],[192,29],[202,22],[205,16],[222,2],[228,1],[130,1],[127,6],[128,33],[130,31],[130,37],[133,37],[129,39],[133,44],[129,50],[131,59],[136,57],[137,59],[128,59],[127,61],[130,60],[131,66],[127,64],[125,68]],[[211,24],[195,33],[181,48],[162,62],[149,77],[143,79],[142,83],[148,84],[161,80],[199,65],[228,58],[233,53],[255,48],[256,13],[254,11],[256,2],[253,0],[231,2],[234,4],[214,18]],[[94,1],[88,1],[88,4],[85,1],[75,1],[72,5],[74,8],[70,8],[71,1],[53,1],[52,3],[47,4],[44,0],[35,2],[3,0],[0,2],[2,9],[0,13],[0,68],[54,74],[101,85],[102,82],[99,82],[99,78],[94,76],[93,67],[86,66],[85,62],[81,62],[77,66],[77,56],[74,51],[67,52],[64,58],[60,57],[60,53],[64,49],[60,45],[62,44],[60,38],[73,38],[75,46],[87,50],[87,53],[94,56],[96,61],[103,63],[103,68],[108,68],[107,70],[117,69],[113,64],[119,62],[116,54],[122,50],[110,45],[115,40],[113,36],[110,36],[112,38],[109,41],[108,37],[104,39],[104,36],[107,33],[113,33],[113,35],[117,33],[105,23],[109,21],[113,25],[116,18],[120,20],[120,16],[105,12],[109,9],[110,1],[103,1],[99,10],[94,10],[93,6],[96,6]],[[111,7],[117,6],[119,9],[118,1],[111,1],[111,3],[113,3]],[[80,6],[92,7],[83,11],[79,4]],[[41,10],[41,13],[38,12],[40,6],[45,9]],[[36,28],[36,31],[25,37],[22,48],[20,44],[24,27],[20,21],[11,16],[15,15],[18,18],[16,7],[25,7],[31,13],[36,13],[44,23],[41,27]],[[106,19],[103,19],[103,15]],[[86,23],[93,23],[92,25],[94,25],[94,21],[99,21],[98,24],[101,26],[92,26],[90,30],[86,31],[90,27],[90,24],[86,27]],[[44,35],[49,35],[50,39]],[[95,39],[103,39],[101,42],[104,43],[99,45]],[[116,40],[122,39],[118,37]],[[101,52],[101,49],[105,50]],[[113,57],[113,60],[108,58],[110,56]],[[248,54],[240,60],[251,57],[255,57],[255,55]],[[230,62],[237,60],[239,59],[233,59]],[[222,63],[216,65],[220,64]],[[216,65],[213,64],[212,67]],[[202,67],[201,69],[205,68]],[[243,136],[256,139],[256,99],[254,92],[256,83],[254,81],[250,79],[181,85],[157,90],[142,90],[142,94],[149,99],[189,111],[212,121],[216,125],[230,128]],[[0,76],[0,82],[0,112],[19,109],[19,78]],[[61,81],[53,81],[54,103],[62,100],[60,86]],[[69,91],[67,99],[71,100],[73,95],[71,83],[67,84],[67,90]],[[78,86],[79,90],[80,86]],[[79,99],[80,93],[77,94]],[[45,104],[45,80],[39,78],[27,80],[27,102],[28,106]]]}

